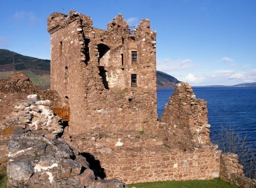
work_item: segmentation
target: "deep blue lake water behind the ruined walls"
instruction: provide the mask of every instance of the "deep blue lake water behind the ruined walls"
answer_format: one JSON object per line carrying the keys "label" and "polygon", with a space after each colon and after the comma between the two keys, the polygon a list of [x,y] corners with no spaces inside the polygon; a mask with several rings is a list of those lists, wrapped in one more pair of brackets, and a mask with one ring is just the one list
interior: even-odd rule
{"label": "deep blue lake water behind the ruined walls", "polygon": [[[195,87],[193,90],[197,98],[208,102],[210,135],[217,133],[221,125],[232,125],[256,147],[256,87]],[[158,116],[163,114],[173,91],[157,89]]]}

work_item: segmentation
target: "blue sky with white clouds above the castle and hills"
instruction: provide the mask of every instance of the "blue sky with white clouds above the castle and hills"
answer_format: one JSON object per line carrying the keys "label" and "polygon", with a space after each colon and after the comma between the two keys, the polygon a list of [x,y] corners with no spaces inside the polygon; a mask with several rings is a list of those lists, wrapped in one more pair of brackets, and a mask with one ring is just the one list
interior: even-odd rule
{"label": "blue sky with white clouds above the castle and hills", "polygon": [[255,8],[254,0],[1,0],[0,49],[50,59],[52,12],[76,10],[101,29],[121,12],[130,26],[150,19],[157,70],[191,85],[256,82]]}

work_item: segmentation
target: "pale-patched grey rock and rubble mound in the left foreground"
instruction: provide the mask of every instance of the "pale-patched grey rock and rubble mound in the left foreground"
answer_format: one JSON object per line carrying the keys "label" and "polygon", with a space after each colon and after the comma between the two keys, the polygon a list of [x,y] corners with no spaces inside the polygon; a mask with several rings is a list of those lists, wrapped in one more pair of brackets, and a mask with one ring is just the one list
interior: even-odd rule
{"label": "pale-patched grey rock and rubble mound in the left foreground", "polygon": [[13,136],[8,145],[9,187],[124,187],[119,180],[95,180],[86,159],[58,137],[62,121],[50,101],[30,95],[6,120]]}

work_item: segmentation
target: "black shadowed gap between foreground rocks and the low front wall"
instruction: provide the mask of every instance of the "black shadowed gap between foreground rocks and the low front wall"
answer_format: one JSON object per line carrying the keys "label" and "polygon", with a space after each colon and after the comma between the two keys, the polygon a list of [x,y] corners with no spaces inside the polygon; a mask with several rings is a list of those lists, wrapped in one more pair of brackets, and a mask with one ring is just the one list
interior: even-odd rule
{"label": "black shadowed gap between foreground rocks and the low front wall", "polygon": [[90,169],[93,170],[97,178],[100,177],[101,179],[104,179],[106,177],[104,168],[101,167],[101,163],[99,160],[96,160],[95,157],[90,153],[81,153],[80,155],[86,158],[86,161],[90,165]]}

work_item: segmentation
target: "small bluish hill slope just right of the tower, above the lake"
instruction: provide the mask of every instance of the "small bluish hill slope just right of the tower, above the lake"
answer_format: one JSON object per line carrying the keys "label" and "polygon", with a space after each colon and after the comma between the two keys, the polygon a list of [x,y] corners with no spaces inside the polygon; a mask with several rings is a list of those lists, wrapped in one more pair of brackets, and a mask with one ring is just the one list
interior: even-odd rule
{"label": "small bluish hill slope just right of the tower, above the lake", "polygon": [[156,86],[157,89],[169,89],[169,88],[175,88],[176,83],[179,83],[180,81],[174,78],[173,76],[161,72],[156,71]]}

